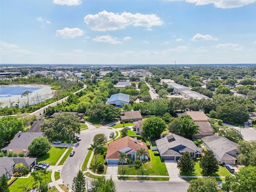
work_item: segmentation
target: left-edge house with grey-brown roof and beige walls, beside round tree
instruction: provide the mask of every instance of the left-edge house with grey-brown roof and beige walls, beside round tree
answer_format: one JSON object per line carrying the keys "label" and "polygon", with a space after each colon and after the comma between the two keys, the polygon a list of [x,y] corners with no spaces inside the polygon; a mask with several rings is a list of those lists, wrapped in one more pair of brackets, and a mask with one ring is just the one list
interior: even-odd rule
{"label": "left-edge house with grey-brown roof and beige walls, beside round tree", "polygon": [[28,146],[34,138],[45,136],[45,132],[21,132],[19,131],[10,144],[1,149],[1,152],[24,152],[26,155],[29,154]]}

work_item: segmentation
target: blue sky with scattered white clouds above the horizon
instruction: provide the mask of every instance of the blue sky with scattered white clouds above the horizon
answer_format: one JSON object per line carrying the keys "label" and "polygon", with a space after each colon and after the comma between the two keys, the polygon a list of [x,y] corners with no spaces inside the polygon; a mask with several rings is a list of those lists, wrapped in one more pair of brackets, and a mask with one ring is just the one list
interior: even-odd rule
{"label": "blue sky with scattered white clouds above the horizon", "polygon": [[0,0],[0,64],[255,64],[256,0]]}

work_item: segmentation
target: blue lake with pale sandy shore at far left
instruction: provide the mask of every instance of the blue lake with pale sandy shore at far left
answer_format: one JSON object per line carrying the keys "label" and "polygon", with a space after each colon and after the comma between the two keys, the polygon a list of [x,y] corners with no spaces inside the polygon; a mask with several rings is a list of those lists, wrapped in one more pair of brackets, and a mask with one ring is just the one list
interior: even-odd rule
{"label": "blue lake with pale sandy shore at far left", "polygon": [[18,104],[18,102],[20,102],[20,106],[25,105],[28,102],[28,98],[21,97],[21,94],[26,91],[32,92],[29,96],[29,103],[31,105],[36,104],[38,100],[42,102],[48,98],[52,98],[56,90],[52,90],[49,85],[38,84],[0,86],[0,107],[10,107],[10,102],[12,105]]}

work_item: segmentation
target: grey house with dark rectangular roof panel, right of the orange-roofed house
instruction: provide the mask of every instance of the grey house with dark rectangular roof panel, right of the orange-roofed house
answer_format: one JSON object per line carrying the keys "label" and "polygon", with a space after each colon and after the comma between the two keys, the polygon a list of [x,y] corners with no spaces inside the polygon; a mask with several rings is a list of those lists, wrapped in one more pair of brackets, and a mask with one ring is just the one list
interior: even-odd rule
{"label": "grey house with dark rectangular roof panel, right of the orange-roofed house", "polygon": [[184,152],[189,152],[191,158],[200,157],[201,150],[192,142],[182,136],[169,133],[156,140],[161,160],[178,160]]}

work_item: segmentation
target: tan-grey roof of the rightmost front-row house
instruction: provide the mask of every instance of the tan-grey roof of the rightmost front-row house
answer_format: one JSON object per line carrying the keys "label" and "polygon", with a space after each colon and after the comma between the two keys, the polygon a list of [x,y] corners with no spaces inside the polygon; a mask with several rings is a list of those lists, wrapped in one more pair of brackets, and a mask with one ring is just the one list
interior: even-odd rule
{"label": "tan-grey roof of the rightmost front-row house", "polygon": [[202,141],[205,142],[206,146],[222,160],[236,159],[228,153],[231,151],[239,152],[238,144],[223,136],[207,136],[202,138]]}

